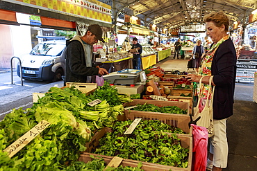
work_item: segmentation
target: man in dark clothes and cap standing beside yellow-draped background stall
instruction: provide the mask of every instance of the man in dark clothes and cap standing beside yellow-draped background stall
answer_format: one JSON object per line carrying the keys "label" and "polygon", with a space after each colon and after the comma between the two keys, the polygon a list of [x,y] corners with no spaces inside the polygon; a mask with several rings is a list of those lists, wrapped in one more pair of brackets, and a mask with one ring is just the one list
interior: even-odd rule
{"label": "man in dark clothes and cap standing beside yellow-draped background stall", "polygon": [[138,43],[137,37],[133,38],[133,44],[131,48],[131,52],[133,53],[133,69],[141,69],[142,68],[142,46]]}

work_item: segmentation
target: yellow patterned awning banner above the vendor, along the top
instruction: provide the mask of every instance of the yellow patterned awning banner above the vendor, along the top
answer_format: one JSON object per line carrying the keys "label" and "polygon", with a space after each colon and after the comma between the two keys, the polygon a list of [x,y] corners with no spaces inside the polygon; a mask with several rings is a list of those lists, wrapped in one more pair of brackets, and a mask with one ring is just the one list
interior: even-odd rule
{"label": "yellow patterned awning banner above the vendor, along the top", "polygon": [[85,0],[3,0],[11,3],[22,4],[40,10],[58,12],[63,15],[94,19],[104,23],[112,22],[111,6],[100,1]]}

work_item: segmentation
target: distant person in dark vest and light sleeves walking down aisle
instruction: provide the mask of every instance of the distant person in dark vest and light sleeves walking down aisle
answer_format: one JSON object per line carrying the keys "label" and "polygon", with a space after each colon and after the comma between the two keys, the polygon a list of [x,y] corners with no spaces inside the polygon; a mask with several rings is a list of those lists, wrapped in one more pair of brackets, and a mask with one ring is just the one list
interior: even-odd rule
{"label": "distant person in dark vest and light sleeves walking down aisle", "polygon": [[197,40],[197,45],[194,46],[192,55],[191,55],[191,60],[193,60],[193,66],[195,71],[198,73],[199,72],[199,66],[201,63],[201,58],[205,55],[204,51],[204,46],[201,45],[201,40]]}

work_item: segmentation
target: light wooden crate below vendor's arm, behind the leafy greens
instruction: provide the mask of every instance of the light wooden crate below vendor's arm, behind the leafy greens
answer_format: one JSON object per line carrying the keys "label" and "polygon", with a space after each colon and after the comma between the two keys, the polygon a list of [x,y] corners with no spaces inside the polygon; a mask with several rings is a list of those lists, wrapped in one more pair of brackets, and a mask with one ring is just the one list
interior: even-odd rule
{"label": "light wooden crate below vendor's arm, behind the leafy greens", "polygon": [[94,91],[97,89],[97,83],[66,82],[66,87],[70,88],[72,86],[86,95],[94,93]]}

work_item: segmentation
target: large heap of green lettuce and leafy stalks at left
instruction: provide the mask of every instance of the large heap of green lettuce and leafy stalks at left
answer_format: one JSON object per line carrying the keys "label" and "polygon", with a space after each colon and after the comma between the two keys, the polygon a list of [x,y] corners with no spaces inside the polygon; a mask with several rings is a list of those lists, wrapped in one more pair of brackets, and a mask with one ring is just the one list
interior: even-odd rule
{"label": "large heap of green lettuce and leafy stalks at left", "polygon": [[[74,87],[51,87],[33,107],[7,114],[0,122],[0,171],[58,171],[77,161],[92,131],[112,126],[117,115],[123,114],[122,105],[110,107],[103,100],[90,107],[87,104],[92,100]],[[3,150],[41,120],[51,125],[10,159]]]}

